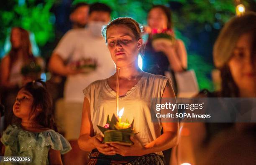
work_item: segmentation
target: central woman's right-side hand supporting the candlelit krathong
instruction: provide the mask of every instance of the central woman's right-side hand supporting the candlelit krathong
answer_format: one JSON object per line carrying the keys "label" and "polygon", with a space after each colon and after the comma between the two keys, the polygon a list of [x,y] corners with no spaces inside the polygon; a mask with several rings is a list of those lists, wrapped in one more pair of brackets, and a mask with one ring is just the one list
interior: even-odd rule
{"label": "central woman's right-side hand supporting the candlelit krathong", "polygon": [[132,146],[119,145],[116,143],[110,143],[113,146],[113,151],[122,156],[142,156],[145,155],[146,148],[138,141],[135,136],[130,137],[133,142]]}

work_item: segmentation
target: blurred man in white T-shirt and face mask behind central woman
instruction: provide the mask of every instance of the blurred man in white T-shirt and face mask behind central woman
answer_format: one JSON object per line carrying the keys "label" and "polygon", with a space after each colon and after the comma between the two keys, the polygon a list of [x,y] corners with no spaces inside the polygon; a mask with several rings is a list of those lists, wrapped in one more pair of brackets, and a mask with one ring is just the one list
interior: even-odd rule
{"label": "blurred man in white T-shirt and face mask behind central woman", "polygon": [[[82,164],[82,151],[77,145],[79,138],[84,95],[82,90],[95,80],[110,77],[115,72],[105,40],[101,35],[103,25],[110,21],[111,9],[105,4],[90,6],[89,22],[85,29],[69,30],[61,39],[49,61],[49,69],[59,75],[67,76],[64,85],[64,102],[61,112],[56,108],[57,120],[63,120],[65,137],[73,150],[67,154],[67,164]],[[77,61],[95,60],[95,70],[83,73],[74,69]],[[57,105],[58,106],[58,105]],[[60,115],[58,115],[60,114]]]}

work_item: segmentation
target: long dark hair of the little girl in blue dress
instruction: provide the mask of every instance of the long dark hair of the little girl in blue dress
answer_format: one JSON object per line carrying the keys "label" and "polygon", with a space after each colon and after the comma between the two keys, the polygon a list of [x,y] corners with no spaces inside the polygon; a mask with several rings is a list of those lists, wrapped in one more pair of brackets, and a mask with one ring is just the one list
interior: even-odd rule
{"label": "long dark hair of the little girl in blue dress", "polygon": [[[33,118],[35,123],[44,128],[50,128],[57,131],[56,123],[54,121],[52,100],[47,91],[46,83],[41,80],[34,80],[20,88],[20,90],[22,89],[28,91],[33,97],[32,110],[29,117],[36,114]],[[37,107],[40,107],[41,111],[36,111]],[[16,124],[15,122],[17,123],[17,120],[12,121],[12,124]]]}

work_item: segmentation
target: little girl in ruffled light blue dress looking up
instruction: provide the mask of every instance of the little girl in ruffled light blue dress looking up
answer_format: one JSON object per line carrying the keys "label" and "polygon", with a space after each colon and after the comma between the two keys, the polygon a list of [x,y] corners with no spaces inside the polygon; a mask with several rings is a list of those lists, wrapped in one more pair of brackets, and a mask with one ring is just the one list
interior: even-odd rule
{"label": "little girl in ruffled light blue dress looking up", "polygon": [[1,138],[2,152],[4,156],[30,157],[35,165],[62,164],[61,154],[71,147],[56,130],[46,84],[41,80],[28,82],[13,105],[11,125]]}

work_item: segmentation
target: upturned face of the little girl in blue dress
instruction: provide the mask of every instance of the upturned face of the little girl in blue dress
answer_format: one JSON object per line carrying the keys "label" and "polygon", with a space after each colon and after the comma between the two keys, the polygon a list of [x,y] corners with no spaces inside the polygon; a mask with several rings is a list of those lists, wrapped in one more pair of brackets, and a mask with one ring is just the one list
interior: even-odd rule
{"label": "upturned face of the little girl in blue dress", "polygon": [[22,120],[28,120],[33,105],[33,96],[26,90],[18,92],[13,105],[13,114]]}

